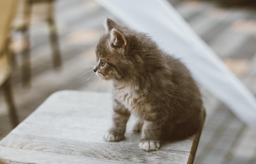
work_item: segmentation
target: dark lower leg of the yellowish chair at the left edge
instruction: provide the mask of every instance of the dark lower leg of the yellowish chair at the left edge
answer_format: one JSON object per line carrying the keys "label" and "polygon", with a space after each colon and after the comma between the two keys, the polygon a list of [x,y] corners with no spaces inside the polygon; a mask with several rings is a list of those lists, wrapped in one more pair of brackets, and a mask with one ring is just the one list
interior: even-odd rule
{"label": "dark lower leg of the yellowish chair at the left edge", "polygon": [[11,122],[14,128],[18,125],[18,116],[17,116],[15,105],[13,103],[10,77],[4,82],[2,87],[3,87],[4,97],[6,98],[6,101],[9,107],[9,116],[11,117]]}

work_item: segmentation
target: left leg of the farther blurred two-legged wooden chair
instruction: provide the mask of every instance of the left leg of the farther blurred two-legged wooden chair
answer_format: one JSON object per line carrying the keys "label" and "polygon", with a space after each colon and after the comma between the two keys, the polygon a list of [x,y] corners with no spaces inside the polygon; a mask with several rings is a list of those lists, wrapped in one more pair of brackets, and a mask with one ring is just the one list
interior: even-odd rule
{"label": "left leg of the farther blurred two-legged wooden chair", "polygon": [[29,30],[28,26],[31,17],[31,7],[30,2],[25,2],[23,19],[25,21],[24,27],[22,28],[22,35],[27,42],[27,47],[22,53],[22,85],[23,87],[29,86],[31,82],[31,69],[30,69],[30,50],[29,50]]}

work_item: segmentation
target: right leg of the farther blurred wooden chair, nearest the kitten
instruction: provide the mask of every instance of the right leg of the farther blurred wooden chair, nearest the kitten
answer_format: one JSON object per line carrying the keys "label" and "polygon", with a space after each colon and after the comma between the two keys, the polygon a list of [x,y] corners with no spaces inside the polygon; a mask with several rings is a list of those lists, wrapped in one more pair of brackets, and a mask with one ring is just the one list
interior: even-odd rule
{"label": "right leg of the farther blurred wooden chair, nearest the kitten", "polygon": [[47,23],[49,26],[50,31],[50,42],[52,46],[52,58],[53,58],[53,65],[55,68],[59,68],[62,65],[61,62],[61,53],[59,50],[58,44],[58,35],[56,30],[56,25],[54,22],[54,1],[48,3],[48,19]]}

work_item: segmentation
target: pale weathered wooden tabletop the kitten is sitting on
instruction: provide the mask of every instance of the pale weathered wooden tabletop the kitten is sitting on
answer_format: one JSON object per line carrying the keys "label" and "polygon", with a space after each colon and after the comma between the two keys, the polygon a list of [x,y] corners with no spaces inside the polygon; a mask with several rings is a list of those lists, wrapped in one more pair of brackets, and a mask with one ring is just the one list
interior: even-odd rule
{"label": "pale weathered wooden tabletop the kitten is sitting on", "polygon": [[200,134],[179,142],[163,142],[158,151],[138,147],[140,133],[128,121],[126,139],[106,142],[112,116],[111,94],[60,91],[0,141],[7,163],[193,163]]}

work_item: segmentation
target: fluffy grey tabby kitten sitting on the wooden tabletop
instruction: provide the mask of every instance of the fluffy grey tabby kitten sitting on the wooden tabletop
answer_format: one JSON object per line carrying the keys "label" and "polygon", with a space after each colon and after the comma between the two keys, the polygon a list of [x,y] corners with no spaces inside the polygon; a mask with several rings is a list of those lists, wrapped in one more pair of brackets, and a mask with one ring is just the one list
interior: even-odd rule
{"label": "fluffy grey tabby kitten sitting on the wooden tabletop", "polygon": [[[113,81],[113,125],[106,141],[124,139],[130,114],[139,119],[140,149],[157,150],[160,140],[182,140],[200,130],[204,107],[200,91],[179,59],[160,50],[145,33],[106,20],[97,44],[94,72]],[[189,54],[188,54],[189,55]]]}

